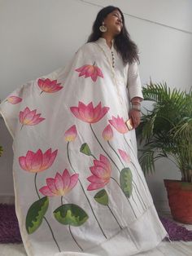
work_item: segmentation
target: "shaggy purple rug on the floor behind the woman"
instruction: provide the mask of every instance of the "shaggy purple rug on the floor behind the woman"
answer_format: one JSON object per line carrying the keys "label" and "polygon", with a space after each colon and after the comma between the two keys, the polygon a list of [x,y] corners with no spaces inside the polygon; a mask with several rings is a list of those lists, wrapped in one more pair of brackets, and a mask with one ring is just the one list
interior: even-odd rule
{"label": "shaggy purple rug on the floor behind the woman", "polygon": [[[185,227],[160,217],[171,241],[192,241],[192,232]],[[20,229],[15,215],[15,205],[0,204],[0,243],[21,243]]]}

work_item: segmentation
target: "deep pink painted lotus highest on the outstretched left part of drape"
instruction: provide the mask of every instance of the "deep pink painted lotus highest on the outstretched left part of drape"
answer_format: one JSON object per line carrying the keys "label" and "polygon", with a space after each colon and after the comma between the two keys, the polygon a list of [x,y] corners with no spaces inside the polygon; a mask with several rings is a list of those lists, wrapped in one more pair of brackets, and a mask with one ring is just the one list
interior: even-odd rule
{"label": "deep pink painted lotus highest on the outstretched left part of drape", "polygon": [[43,79],[38,79],[38,86],[41,89],[41,93],[43,91],[48,92],[48,93],[54,93],[58,90],[61,90],[63,86],[60,86],[61,83],[57,83],[57,80],[50,80],[49,78],[46,78],[45,80]]}

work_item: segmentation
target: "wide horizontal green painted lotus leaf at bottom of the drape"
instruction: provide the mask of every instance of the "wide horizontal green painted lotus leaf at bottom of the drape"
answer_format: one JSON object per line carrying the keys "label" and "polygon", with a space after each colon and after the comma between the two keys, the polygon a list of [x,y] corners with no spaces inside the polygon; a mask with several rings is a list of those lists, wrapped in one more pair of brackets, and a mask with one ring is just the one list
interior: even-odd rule
{"label": "wide horizontal green painted lotus leaf at bottom of the drape", "polygon": [[75,227],[81,226],[89,218],[85,210],[73,204],[59,206],[54,211],[54,216],[59,223]]}

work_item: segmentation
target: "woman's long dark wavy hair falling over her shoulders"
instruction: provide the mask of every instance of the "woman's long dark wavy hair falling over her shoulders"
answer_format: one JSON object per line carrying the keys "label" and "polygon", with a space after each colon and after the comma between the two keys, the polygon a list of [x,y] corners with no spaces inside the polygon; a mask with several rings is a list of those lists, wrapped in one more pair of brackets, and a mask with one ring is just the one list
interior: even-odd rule
{"label": "woman's long dark wavy hair falling over her shoulders", "polygon": [[[104,7],[101,11],[98,12],[96,20],[93,24],[92,33],[89,35],[87,42],[94,42],[98,40],[98,38],[101,38],[102,32],[99,30],[99,27],[102,25],[103,20],[107,17],[107,15],[115,10],[120,11],[120,8],[109,6]],[[116,36],[114,40],[114,46],[116,51],[120,53],[124,65],[128,63],[131,64],[134,60],[139,62],[137,45],[131,40],[125,27],[124,15],[122,11],[120,11],[120,14],[122,16],[123,28],[121,29],[121,32]]]}

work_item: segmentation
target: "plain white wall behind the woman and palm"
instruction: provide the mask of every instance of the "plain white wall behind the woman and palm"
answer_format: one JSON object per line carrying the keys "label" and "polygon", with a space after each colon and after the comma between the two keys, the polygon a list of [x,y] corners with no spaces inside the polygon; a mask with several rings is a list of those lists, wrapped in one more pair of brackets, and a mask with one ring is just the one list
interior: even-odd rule
{"label": "plain white wall behind the woman and palm", "polygon": [[[124,12],[133,40],[140,49],[142,83],[168,82],[189,89],[192,81],[191,0],[0,0],[0,98],[17,86],[68,63],[89,36],[101,7]],[[0,120],[0,197],[13,195],[11,136]],[[163,179],[180,179],[168,161],[147,176],[152,196],[164,207]],[[0,198],[1,199],[1,198]]]}

